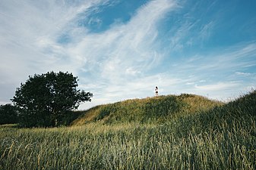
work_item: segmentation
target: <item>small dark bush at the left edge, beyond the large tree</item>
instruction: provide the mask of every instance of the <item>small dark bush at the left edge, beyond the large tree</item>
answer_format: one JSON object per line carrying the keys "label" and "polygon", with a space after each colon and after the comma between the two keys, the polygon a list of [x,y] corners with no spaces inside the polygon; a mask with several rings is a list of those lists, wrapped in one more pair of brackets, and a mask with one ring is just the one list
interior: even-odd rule
{"label": "small dark bush at the left edge, beyond the large tree", "polygon": [[17,123],[17,108],[11,104],[0,106],[0,125]]}

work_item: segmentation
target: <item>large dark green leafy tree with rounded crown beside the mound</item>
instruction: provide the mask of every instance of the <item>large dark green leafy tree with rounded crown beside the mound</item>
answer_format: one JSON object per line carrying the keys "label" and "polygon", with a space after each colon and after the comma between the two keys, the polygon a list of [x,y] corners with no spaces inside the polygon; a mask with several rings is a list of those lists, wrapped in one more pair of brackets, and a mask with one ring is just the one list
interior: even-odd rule
{"label": "large dark green leafy tree with rounded crown beside the mound", "polygon": [[92,93],[77,90],[77,77],[72,73],[48,72],[29,76],[17,88],[12,101],[20,109],[22,126],[56,126],[65,114],[91,97]]}

